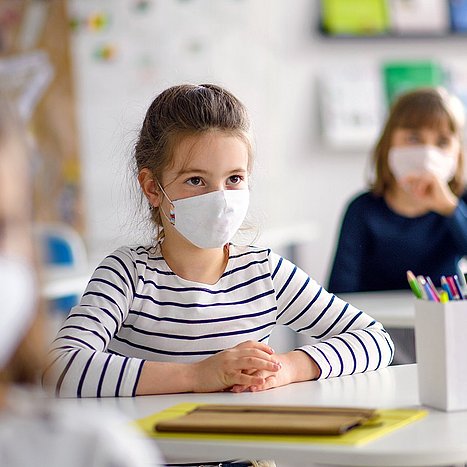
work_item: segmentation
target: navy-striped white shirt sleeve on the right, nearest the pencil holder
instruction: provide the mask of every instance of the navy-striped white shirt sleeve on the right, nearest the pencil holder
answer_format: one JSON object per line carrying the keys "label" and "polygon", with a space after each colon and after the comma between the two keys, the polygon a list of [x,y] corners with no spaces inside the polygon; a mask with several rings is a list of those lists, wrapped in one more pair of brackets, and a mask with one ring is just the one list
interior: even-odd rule
{"label": "navy-striped white shirt sleeve on the right, nearest the pencil holder", "polygon": [[389,365],[394,344],[382,324],[327,292],[305,272],[271,253],[277,323],[313,338],[304,345],[319,366],[319,379],[376,370]]}

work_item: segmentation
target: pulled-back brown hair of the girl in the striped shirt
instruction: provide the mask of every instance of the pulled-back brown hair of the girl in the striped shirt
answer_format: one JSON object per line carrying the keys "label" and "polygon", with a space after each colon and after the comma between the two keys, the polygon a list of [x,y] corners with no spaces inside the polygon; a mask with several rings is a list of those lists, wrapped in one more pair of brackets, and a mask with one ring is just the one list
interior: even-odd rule
{"label": "pulled-back brown hair of the girl in the striped shirt", "polygon": [[[184,138],[215,130],[245,142],[251,170],[250,121],[245,106],[233,94],[214,84],[182,84],[166,89],[146,112],[134,149],[136,174],[149,169],[154,179],[161,181],[164,170],[173,163],[175,148]],[[159,208],[151,207],[150,211],[160,238]]]}

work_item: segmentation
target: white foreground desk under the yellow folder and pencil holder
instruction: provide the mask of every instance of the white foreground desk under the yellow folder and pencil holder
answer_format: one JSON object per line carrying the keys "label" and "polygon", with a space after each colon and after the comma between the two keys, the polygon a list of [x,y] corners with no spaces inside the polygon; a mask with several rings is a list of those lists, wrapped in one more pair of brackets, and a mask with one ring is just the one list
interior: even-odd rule
{"label": "white foreground desk under the yellow folder and pencil holder", "polygon": [[[108,399],[62,399],[61,404],[113,406],[132,419],[181,402],[329,405],[377,408],[419,404],[416,365],[324,381],[296,383],[260,393],[215,393]],[[275,459],[279,467],[324,465],[433,466],[467,462],[467,411],[436,410],[422,420],[359,447],[301,443],[158,440],[167,460]]]}

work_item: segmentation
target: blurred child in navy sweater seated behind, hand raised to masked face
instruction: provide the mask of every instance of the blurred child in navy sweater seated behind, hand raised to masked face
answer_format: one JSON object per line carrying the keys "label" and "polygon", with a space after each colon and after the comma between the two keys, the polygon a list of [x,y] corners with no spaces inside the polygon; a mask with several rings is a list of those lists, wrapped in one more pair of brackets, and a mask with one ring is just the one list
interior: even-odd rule
{"label": "blurred child in navy sweater seated behind, hand raised to masked face", "polygon": [[[330,291],[408,289],[407,270],[439,286],[442,275],[458,273],[467,255],[463,129],[462,104],[445,89],[418,89],[394,103],[373,153],[370,191],[346,209]],[[408,333],[410,355],[396,352],[395,361],[414,361]]]}

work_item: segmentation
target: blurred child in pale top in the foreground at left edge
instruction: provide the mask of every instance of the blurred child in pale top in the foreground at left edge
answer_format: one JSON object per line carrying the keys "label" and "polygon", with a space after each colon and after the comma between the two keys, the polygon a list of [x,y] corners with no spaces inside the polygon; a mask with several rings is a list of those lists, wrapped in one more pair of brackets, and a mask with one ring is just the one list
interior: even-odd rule
{"label": "blurred child in pale top in the foreground at left edge", "polygon": [[47,326],[37,297],[29,167],[12,115],[0,97],[0,465],[160,465],[155,448],[127,420],[69,410],[38,389]]}

